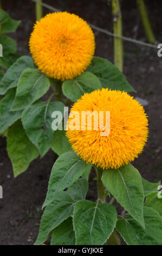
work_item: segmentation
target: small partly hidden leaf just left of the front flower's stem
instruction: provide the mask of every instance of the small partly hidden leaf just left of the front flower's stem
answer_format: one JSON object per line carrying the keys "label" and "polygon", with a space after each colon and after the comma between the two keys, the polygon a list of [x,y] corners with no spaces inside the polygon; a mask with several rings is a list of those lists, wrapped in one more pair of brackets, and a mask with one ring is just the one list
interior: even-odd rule
{"label": "small partly hidden leaf just left of the front flower's stem", "polygon": [[88,182],[85,179],[78,179],[70,186],[67,193],[73,198],[74,201],[84,200],[88,191]]}

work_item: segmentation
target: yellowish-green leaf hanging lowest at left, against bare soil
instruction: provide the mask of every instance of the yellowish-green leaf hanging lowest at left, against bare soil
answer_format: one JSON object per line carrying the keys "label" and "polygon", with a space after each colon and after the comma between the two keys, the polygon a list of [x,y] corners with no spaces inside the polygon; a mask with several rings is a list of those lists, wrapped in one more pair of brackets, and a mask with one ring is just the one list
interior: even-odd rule
{"label": "yellowish-green leaf hanging lowest at left, against bare soil", "polygon": [[38,156],[35,146],[29,141],[20,120],[8,130],[7,150],[14,169],[14,176],[24,172]]}

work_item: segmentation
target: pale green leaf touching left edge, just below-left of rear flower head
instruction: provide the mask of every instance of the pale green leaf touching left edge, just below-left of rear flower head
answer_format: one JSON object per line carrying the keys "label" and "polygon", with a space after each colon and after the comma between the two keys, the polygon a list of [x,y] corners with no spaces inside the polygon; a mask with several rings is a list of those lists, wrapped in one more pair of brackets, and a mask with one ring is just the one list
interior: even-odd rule
{"label": "pale green leaf touching left edge, just below-left of rear flower head", "polygon": [[8,89],[16,87],[20,75],[24,69],[34,68],[33,59],[29,56],[22,56],[10,66],[0,83],[0,94],[5,94]]}

